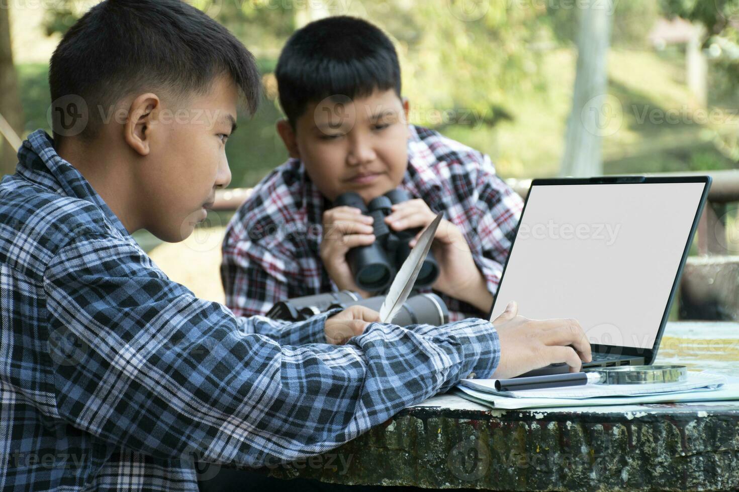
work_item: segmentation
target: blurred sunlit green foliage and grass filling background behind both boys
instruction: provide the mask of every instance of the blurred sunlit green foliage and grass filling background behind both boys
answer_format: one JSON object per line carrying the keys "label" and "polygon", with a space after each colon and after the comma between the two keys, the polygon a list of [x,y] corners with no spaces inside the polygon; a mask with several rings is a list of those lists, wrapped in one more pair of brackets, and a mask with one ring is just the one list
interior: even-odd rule
{"label": "blurred sunlit green foliage and grass filling background behind both boys", "polygon": [[[281,111],[272,72],[290,34],[323,15],[367,18],[392,38],[412,122],[489,153],[503,176],[557,172],[571,106],[577,5],[582,2],[325,0],[324,7],[316,8],[315,0],[188,1],[234,32],[254,52],[264,74],[265,101],[253,119],[239,115],[239,131],[227,145],[232,187],[256,184],[287,158],[274,129]],[[56,9],[47,12],[47,31],[65,32],[96,3],[50,2]],[[609,92],[626,112],[620,131],[604,139],[606,172],[735,165],[717,150],[726,146],[723,141],[714,142],[702,125],[650,125],[637,122],[634,115],[644,108],[679,108],[689,99],[684,53],[679,49],[655,53],[647,44],[656,18],[682,15],[730,36],[732,28],[725,21],[737,17],[739,0],[598,0],[597,4],[614,9]],[[28,131],[48,126],[46,70],[46,66],[20,67]],[[712,64],[711,70],[710,94],[725,91],[712,103],[725,106],[736,97],[739,79],[721,63]]]}

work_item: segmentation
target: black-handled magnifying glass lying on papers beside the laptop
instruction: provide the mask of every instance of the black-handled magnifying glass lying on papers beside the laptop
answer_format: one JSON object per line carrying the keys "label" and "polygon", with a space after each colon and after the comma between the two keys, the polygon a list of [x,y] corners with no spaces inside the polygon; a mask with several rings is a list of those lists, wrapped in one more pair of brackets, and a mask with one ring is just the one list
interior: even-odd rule
{"label": "black-handled magnifying glass lying on papers beside the laptop", "polygon": [[531,376],[530,378],[498,379],[498,391],[561,388],[586,384],[670,384],[687,381],[685,366],[622,366],[596,367],[581,373]]}

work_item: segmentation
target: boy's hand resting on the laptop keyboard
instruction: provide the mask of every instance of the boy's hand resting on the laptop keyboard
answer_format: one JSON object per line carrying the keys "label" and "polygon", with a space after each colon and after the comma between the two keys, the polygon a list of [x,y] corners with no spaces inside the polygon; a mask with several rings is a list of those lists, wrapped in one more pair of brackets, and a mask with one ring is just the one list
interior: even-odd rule
{"label": "boy's hand resting on the laptop keyboard", "polygon": [[493,378],[514,378],[559,362],[576,373],[583,361],[592,361],[590,342],[576,319],[528,319],[517,314],[517,303],[510,302],[493,321],[500,340],[500,363]]}

